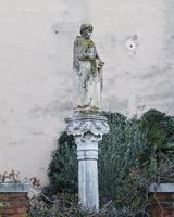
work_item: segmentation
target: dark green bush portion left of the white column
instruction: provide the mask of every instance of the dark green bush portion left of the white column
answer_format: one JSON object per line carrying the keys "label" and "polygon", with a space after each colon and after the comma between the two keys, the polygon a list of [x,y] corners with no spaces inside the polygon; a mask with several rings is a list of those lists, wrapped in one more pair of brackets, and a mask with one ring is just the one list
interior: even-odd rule
{"label": "dark green bush portion left of the white column", "polygon": [[63,132],[58,141],[58,149],[52,153],[49,165],[49,187],[45,192],[55,194],[58,192],[77,192],[77,159],[74,138]]}

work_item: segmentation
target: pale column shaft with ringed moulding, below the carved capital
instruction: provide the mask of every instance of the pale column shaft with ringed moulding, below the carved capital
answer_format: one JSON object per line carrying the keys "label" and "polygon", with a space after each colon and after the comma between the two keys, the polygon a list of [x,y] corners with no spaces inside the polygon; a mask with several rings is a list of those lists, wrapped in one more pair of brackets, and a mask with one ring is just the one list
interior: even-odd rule
{"label": "pale column shaft with ringed moulding, below the carved capital", "polygon": [[83,209],[98,212],[98,149],[79,150],[78,157],[78,196]]}

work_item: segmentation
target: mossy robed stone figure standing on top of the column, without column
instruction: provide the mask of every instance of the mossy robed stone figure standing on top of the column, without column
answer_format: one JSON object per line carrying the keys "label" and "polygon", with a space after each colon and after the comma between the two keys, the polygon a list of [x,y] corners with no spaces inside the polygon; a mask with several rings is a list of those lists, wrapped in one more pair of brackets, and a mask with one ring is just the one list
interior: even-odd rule
{"label": "mossy robed stone figure standing on top of the column, without column", "polygon": [[102,91],[102,67],[104,63],[90,39],[90,24],[80,26],[80,36],[74,42],[75,111],[100,111]]}

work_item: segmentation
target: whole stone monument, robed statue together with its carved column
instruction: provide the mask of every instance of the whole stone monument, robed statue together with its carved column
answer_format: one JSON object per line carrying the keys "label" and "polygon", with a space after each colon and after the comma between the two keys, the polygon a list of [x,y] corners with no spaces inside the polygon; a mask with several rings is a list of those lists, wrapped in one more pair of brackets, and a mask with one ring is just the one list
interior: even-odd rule
{"label": "whole stone monument, robed statue together with its carved column", "polygon": [[74,137],[78,161],[78,203],[83,210],[99,210],[98,143],[109,132],[108,120],[101,111],[102,67],[90,24],[80,26],[74,42],[74,111],[66,118],[66,132]]}

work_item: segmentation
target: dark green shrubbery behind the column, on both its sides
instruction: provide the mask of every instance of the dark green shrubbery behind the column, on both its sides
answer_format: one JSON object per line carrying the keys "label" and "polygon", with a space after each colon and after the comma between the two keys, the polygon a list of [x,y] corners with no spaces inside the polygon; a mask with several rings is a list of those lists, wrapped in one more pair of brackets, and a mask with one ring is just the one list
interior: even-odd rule
{"label": "dark green shrubbery behind the column, on both its sides", "polygon": [[[174,168],[174,117],[156,110],[130,119],[119,113],[103,115],[110,132],[99,143],[101,207],[112,207],[117,216],[145,214],[150,202],[149,184],[174,182],[170,175]],[[52,153],[48,176],[50,183],[44,189],[48,195],[77,193],[76,145],[66,132]]]}

